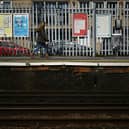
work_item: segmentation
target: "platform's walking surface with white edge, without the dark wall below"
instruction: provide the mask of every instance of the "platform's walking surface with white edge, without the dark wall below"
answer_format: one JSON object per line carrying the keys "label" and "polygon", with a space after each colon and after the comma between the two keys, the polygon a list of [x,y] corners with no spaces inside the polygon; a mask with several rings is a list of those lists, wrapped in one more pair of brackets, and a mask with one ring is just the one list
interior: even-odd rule
{"label": "platform's walking surface with white edge, without the dark wall below", "polygon": [[0,66],[129,66],[126,57],[0,57]]}

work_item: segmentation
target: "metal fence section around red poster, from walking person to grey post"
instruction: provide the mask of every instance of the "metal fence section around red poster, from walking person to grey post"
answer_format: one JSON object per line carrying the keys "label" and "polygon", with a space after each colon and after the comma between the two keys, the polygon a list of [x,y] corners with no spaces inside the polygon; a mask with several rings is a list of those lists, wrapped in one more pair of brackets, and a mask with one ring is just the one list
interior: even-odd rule
{"label": "metal fence section around red poster, from walking person to grey post", "polygon": [[[38,22],[38,8],[36,13],[36,21]],[[92,44],[92,31],[93,26],[93,10],[88,8],[42,8],[40,11],[41,20],[47,23],[46,31],[49,36],[49,40],[52,43],[52,53],[54,55],[63,56],[92,56],[93,44]],[[74,13],[87,13],[89,19],[89,35],[85,37],[73,37],[72,36],[72,15]]]}

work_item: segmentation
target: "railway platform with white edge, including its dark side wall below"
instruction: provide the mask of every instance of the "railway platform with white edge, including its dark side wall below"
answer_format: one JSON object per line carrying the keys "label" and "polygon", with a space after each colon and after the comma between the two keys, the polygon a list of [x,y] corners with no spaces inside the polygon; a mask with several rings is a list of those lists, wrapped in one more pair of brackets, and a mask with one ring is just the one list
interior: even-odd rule
{"label": "railway platform with white edge, including its dark side wall below", "polygon": [[0,57],[0,82],[2,91],[123,93],[129,57]]}

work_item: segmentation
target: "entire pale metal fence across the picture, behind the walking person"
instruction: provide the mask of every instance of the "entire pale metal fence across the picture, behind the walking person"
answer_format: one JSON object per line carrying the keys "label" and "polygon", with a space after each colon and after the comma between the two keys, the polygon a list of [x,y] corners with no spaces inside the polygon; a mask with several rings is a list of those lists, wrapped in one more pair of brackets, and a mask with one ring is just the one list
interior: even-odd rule
{"label": "entire pale metal fence across the picture, behind the walking person", "polygon": [[[28,37],[2,37],[4,40],[12,40],[16,44],[33,49],[36,42],[34,28],[41,21],[45,21],[46,32],[49,38],[51,55],[61,56],[126,56],[129,55],[129,4],[121,7],[116,4],[80,4],[78,7],[70,7],[67,4],[63,8],[38,6],[25,8],[2,8],[0,14],[29,14]],[[88,34],[84,37],[72,36],[73,14],[83,13],[88,16]],[[96,16],[111,15],[111,36],[96,36]]]}

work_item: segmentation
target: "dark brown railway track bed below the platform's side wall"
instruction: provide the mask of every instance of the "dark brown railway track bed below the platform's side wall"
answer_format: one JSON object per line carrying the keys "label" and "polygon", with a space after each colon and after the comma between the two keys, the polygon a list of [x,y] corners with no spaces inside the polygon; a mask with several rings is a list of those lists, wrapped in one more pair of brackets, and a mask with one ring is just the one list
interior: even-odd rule
{"label": "dark brown railway track bed below the platform's side wall", "polygon": [[129,129],[128,92],[1,92],[0,129]]}

